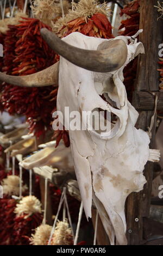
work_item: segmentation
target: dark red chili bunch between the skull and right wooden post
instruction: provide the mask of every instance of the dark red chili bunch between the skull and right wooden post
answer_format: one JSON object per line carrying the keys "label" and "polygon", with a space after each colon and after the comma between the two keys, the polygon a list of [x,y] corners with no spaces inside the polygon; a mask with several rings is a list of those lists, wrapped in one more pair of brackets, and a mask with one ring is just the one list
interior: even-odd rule
{"label": "dark red chili bunch between the skull and right wooden post", "polygon": [[[140,1],[134,0],[129,2],[124,9],[121,9],[120,16],[126,14],[127,20],[121,21],[119,29],[123,29],[119,34],[125,36],[132,36],[139,30],[140,21]],[[124,85],[126,86],[128,99],[131,102],[132,95],[134,92],[134,80],[136,78],[137,71],[137,58],[132,60],[123,71],[124,74]]]}

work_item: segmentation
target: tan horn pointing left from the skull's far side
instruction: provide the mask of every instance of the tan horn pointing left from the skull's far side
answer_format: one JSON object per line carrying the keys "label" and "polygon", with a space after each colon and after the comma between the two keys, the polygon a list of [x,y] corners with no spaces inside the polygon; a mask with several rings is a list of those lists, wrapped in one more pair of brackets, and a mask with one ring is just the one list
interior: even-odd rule
{"label": "tan horn pointing left from the skull's far side", "polygon": [[58,85],[59,63],[27,76],[10,76],[0,72],[0,81],[21,87],[43,87]]}

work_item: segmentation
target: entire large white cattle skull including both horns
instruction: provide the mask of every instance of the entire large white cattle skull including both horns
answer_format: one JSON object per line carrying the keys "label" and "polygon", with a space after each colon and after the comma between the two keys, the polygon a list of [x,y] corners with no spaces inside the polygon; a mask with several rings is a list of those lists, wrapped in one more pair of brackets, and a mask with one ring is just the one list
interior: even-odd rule
{"label": "entire large white cattle skull including both horns", "polygon": [[30,76],[0,73],[0,80],[28,87],[59,81],[57,108],[62,113],[68,106],[80,113],[100,108],[116,115],[109,134],[89,130],[69,133],[86,217],[91,217],[93,198],[111,245],[115,237],[117,244],[125,245],[124,203],[131,192],[143,189],[147,161],[159,159],[158,151],[149,150],[148,134],[135,128],[139,114],[129,103],[123,84],[124,66],[144,52],[143,45],[136,40],[129,44],[131,38],[125,36],[106,40],[76,32],[60,40],[47,29],[41,34],[62,56],[60,63]]}

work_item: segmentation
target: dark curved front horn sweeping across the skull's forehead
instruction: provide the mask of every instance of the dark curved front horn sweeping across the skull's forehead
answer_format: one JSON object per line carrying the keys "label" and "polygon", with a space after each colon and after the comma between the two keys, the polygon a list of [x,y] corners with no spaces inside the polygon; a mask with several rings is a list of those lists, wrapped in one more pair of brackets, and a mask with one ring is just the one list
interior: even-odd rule
{"label": "dark curved front horn sweeping across the skull's forehead", "polygon": [[41,29],[41,35],[55,52],[74,65],[90,71],[115,71],[120,69],[127,59],[127,46],[122,39],[104,41],[99,45],[102,49],[92,51],[71,46],[46,28]]}

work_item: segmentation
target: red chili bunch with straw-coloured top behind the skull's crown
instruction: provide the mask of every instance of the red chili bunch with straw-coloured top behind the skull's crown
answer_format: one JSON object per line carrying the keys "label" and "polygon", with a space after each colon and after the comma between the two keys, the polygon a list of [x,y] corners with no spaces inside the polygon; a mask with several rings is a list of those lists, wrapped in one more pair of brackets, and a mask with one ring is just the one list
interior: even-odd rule
{"label": "red chili bunch with straw-coloured top behind the skull's crown", "polygon": [[[96,38],[114,38],[112,27],[107,17],[108,9],[105,3],[99,7],[98,1],[80,0],[79,3],[73,3],[72,5],[73,10],[69,11],[65,16],[65,20],[61,18],[53,26],[53,31],[61,38],[73,32],[80,32]],[[65,25],[62,26],[62,23],[65,23]],[[66,147],[70,146],[68,131],[65,129],[55,131],[53,138],[57,141],[56,147],[61,139],[63,139]]]}

